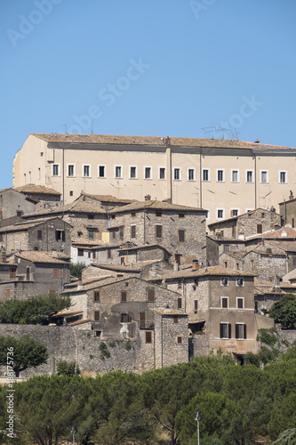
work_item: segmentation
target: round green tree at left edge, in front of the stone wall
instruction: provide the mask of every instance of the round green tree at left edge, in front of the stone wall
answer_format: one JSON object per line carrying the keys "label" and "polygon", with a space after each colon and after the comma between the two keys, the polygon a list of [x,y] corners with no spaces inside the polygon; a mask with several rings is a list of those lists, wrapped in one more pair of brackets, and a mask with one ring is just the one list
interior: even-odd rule
{"label": "round green tree at left edge, in front of the stone wall", "polygon": [[[7,352],[10,352],[8,354]],[[0,365],[7,366],[7,356],[15,376],[27,368],[37,368],[48,359],[47,348],[44,344],[30,336],[15,338],[0,336]]]}

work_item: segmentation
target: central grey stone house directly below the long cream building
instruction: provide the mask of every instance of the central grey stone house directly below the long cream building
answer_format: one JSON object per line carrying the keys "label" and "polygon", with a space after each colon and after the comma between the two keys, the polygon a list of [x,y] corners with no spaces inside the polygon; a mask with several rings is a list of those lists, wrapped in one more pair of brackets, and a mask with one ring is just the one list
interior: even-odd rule
{"label": "central grey stone house directly below the long cream building", "polygon": [[172,261],[205,263],[207,211],[147,200],[109,212],[108,231],[113,242],[124,239],[137,246],[159,245],[172,254]]}

